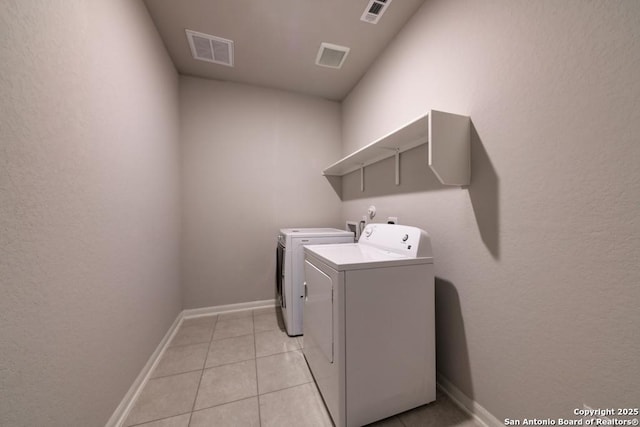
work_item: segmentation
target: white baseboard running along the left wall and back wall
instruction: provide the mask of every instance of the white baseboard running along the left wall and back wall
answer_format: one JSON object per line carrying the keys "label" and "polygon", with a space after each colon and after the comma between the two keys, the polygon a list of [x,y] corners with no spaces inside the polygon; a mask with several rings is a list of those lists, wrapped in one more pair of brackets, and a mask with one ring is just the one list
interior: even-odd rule
{"label": "white baseboard running along the left wall and back wall", "polygon": [[243,311],[243,310],[252,310],[254,308],[263,308],[263,307],[274,307],[275,300],[263,300],[263,301],[252,301],[252,302],[243,302],[239,304],[228,304],[228,305],[218,305],[215,307],[202,307],[202,308],[193,308],[189,310],[182,310],[178,313],[176,320],[173,321],[173,324],[167,331],[167,333],[158,344],[156,350],[151,354],[149,360],[142,368],[142,371],[138,374],[138,377],[135,379],[127,394],[124,395],[124,398],[116,408],[116,410],[105,424],[105,427],[120,427],[127,419],[133,404],[136,399],[140,395],[140,392],[149,381],[149,377],[151,376],[151,372],[156,367],[165,350],[169,346],[169,343],[173,339],[173,336],[178,331],[178,328],[182,324],[184,319],[190,319],[194,317],[203,317],[203,316],[211,316],[213,314],[220,313],[229,313],[234,311]]}

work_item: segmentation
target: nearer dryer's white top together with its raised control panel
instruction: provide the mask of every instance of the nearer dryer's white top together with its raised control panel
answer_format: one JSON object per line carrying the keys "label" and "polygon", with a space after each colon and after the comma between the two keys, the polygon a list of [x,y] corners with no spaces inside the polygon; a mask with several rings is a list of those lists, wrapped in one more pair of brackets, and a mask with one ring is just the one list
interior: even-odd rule
{"label": "nearer dryer's white top together with its raised control panel", "polygon": [[305,252],[336,270],[433,263],[429,234],[396,224],[369,224],[358,243],[308,245]]}

